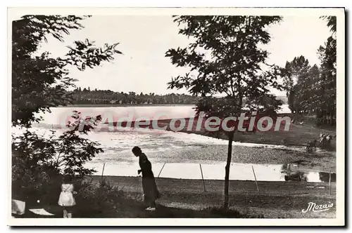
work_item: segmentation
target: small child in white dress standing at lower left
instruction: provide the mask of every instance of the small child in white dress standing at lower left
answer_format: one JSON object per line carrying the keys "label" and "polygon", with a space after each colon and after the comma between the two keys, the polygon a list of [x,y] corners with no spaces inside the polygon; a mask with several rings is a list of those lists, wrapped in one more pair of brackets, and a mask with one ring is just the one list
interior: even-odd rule
{"label": "small child in white dress standing at lower left", "polygon": [[58,198],[58,205],[63,207],[63,218],[72,218],[72,208],[76,204],[73,194],[77,194],[73,189],[74,186],[70,176],[65,176],[61,185],[61,194]]}

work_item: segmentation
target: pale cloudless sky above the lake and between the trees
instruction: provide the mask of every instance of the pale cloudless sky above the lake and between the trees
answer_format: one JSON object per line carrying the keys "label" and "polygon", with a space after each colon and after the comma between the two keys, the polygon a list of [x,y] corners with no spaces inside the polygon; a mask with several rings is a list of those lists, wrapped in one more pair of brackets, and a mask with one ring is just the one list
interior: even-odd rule
{"label": "pale cloudless sky above the lake and between the trees", "polygon": [[[187,93],[186,90],[170,90],[167,83],[173,76],[187,72],[175,67],[165,52],[170,48],[185,47],[186,36],[178,34],[177,23],[168,15],[94,15],[82,21],[84,29],[65,36],[65,42],[49,38],[43,42],[42,50],[53,56],[62,56],[66,46],[75,40],[96,41],[97,46],[105,43],[120,43],[116,48],[123,55],[115,55],[112,62],[103,62],[101,67],[83,72],[70,69],[77,86],[98,90],[123,91],[128,93]],[[270,44],[263,46],[270,53],[268,64],[284,66],[296,56],[308,58],[311,65],[319,65],[317,50],[330,35],[326,22],[316,15],[287,16],[268,29],[272,36]],[[284,92],[271,90],[275,95]]]}

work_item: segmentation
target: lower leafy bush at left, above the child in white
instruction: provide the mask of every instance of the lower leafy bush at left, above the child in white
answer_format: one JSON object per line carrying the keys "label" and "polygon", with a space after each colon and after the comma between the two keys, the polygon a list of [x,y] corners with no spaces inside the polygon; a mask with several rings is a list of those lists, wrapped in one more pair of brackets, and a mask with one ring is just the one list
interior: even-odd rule
{"label": "lower leafy bush at left, above the child in white", "polygon": [[94,117],[84,125],[81,121],[82,129],[79,130],[79,125],[70,126],[62,135],[57,135],[54,130],[48,136],[38,135],[30,129],[23,135],[13,135],[13,192],[28,196],[33,189],[56,180],[58,175],[92,175],[94,169],[84,168],[84,163],[103,150],[99,143],[82,138],[80,134],[87,134],[100,119]]}

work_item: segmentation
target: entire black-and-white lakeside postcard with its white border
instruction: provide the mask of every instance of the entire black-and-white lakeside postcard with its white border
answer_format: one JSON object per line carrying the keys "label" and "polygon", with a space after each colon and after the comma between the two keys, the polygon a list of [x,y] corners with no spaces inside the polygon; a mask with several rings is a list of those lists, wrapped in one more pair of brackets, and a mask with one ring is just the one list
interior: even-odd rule
{"label": "entire black-and-white lakeside postcard with its white border", "polygon": [[8,8],[9,225],[344,225],[344,40],[344,8]]}

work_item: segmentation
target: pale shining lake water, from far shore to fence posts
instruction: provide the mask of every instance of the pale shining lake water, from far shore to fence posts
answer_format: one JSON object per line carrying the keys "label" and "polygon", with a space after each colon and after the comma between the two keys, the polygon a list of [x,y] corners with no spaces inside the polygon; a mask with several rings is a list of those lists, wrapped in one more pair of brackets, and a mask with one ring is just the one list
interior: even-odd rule
{"label": "pale shining lake water, from far shore to fence posts", "polygon": [[[158,119],[187,118],[194,116],[194,106],[176,105],[176,106],[128,106],[128,107],[56,107],[51,109],[51,113],[41,114],[43,121],[35,124],[34,131],[41,135],[49,134],[49,130],[54,128],[57,133],[64,131],[61,128],[62,122],[67,116],[77,110],[82,114],[94,116],[106,114],[120,118],[122,116],[132,115],[134,119],[138,117],[153,117],[159,115]],[[287,106],[284,106],[282,112],[287,112]],[[107,119],[109,119],[107,117]],[[64,120],[63,120],[64,119]],[[13,128],[13,132],[19,133],[18,129]],[[180,161],[169,162],[168,153],[177,151],[182,153],[191,147],[201,147],[202,145],[227,145],[227,140],[209,138],[202,135],[188,133],[177,133],[171,131],[158,131],[150,129],[127,128],[125,131],[114,132],[92,132],[87,135],[90,140],[101,143],[104,152],[87,163],[87,167],[95,168],[96,174],[101,174],[104,166],[104,175],[124,175],[136,176],[139,166],[137,159],[132,156],[131,148],[139,145],[143,151],[151,155],[153,162],[153,172],[156,176],[163,178],[187,178],[201,179],[201,169],[204,179],[223,180],[223,171],[225,162],[222,161]],[[256,145],[252,143],[234,142],[234,145],[246,147],[269,147],[282,148],[282,145]],[[304,150],[300,147],[285,149]],[[156,159],[153,155],[162,153],[166,155],[162,159]],[[201,164],[201,165],[200,165]],[[163,168],[163,169],[162,169]],[[161,171],[162,169],[162,171]],[[300,175],[290,175],[290,171],[284,169],[283,164],[232,164],[230,171],[231,180],[254,180],[253,170],[258,180],[266,181],[285,181],[298,180],[304,178],[307,182],[326,182],[325,176],[319,172],[310,172]],[[325,177],[325,178],[324,178]]]}

